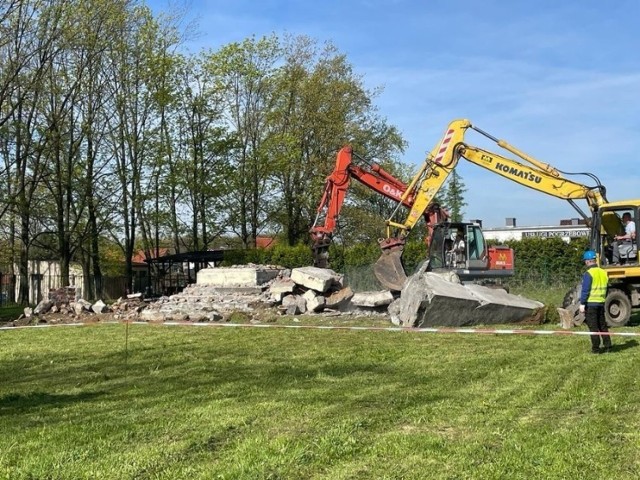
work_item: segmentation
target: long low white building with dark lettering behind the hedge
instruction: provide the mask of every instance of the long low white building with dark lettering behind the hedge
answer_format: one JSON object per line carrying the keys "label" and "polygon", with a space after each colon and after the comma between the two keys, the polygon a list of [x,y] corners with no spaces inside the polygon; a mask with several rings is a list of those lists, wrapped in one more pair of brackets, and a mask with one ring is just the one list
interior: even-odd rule
{"label": "long low white building with dark lettering behind the hedge", "polygon": [[531,227],[516,226],[515,218],[507,218],[504,227],[482,228],[487,240],[505,242],[507,240],[522,240],[529,237],[552,238],[560,237],[565,242],[572,238],[588,237],[589,227],[583,221],[572,218],[561,220],[560,225],[537,225]]}

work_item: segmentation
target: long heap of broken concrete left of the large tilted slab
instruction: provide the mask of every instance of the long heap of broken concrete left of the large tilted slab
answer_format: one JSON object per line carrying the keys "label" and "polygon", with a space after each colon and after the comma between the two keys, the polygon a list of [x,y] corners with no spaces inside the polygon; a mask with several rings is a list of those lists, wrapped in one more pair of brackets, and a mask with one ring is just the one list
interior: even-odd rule
{"label": "long heap of broken concrete left of the large tilted slab", "polygon": [[388,291],[354,293],[343,285],[343,276],[332,270],[256,265],[201,270],[195,284],[175,295],[144,299],[137,293],[110,305],[78,298],[74,287],[56,289],[35,308],[25,308],[18,324],[35,318],[47,323],[84,321],[100,314],[126,321],[210,322],[266,308],[283,315],[385,314],[392,301]]}

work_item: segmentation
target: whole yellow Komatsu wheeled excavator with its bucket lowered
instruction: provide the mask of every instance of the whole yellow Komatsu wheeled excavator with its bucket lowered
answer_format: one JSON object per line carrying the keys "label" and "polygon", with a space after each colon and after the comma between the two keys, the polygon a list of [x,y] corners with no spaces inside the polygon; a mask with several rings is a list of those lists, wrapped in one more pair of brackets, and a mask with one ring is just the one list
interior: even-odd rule
{"label": "whole yellow Komatsu wheeled excavator with its bucket lowered", "polygon": [[[469,130],[481,134],[500,148],[519,157],[514,160],[464,142]],[[454,120],[447,127],[443,138],[427,156],[418,173],[408,185],[404,195],[413,195],[413,207],[403,221],[395,220],[398,209],[387,221],[387,236],[380,240],[382,255],[374,265],[378,280],[386,288],[400,291],[406,280],[402,266],[402,252],[411,229],[433,201],[461,158],[489,170],[513,182],[541,193],[564,199],[590,226],[590,248],[598,254],[599,264],[609,275],[609,291],[605,309],[607,322],[612,326],[625,325],[632,307],[640,306],[640,264],[638,263],[638,238],[621,248],[615,237],[624,234],[623,215],[630,215],[638,231],[640,199],[608,202],[606,189],[600,180],[590,173],[567,173],[543,163],[514,146],[499,140],[474,126],[469,120]],[[570,175],[589,177],[594,186],[586,186],[566,178]],[[576,201],[586,201],[585,213]],[[402,200],[401,200],[402,201]],[[577,289],[565,297],[565,307],[577,301]]]}

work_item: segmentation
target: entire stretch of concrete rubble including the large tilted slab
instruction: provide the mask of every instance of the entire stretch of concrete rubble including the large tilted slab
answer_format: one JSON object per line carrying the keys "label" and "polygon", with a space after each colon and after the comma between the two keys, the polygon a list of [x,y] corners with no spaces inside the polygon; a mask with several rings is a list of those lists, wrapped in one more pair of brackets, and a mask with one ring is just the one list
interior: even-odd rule
{"label": "entire stretch of concrete rubble including the large tilted slab", "polygon": [[[354,293],[342,275],[329,269],[265,265],[200,270],[195,284],[160,299],[134,294],[107,306],[76,296],[73,287],[54,290],[33,310],[25,309],[24,316],[51,323],[104,313],[114,320],[215,322],[236,312],[271,309],[286,315],[382,314],[396,325],[425,327],[521,322],[535,319],[543,307],[501,289],[462,285],[434,273],[409,277],[396,298],[387,290]],[[47,318],[51,314],[57,316]]]}

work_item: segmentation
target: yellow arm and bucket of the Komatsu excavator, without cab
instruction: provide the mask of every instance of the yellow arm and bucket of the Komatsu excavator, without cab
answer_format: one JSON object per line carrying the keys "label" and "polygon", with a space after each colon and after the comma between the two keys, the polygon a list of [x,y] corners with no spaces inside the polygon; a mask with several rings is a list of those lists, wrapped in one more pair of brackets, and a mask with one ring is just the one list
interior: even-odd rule
{"label": "yellow arm and bucket of the Komatsu excavator, without cab", "polygon": [[[487,137],[499,147],[520,157],[530,165],[465,144],[464,136],[469,129]],[[573,182],[565,178],[562,172],[551,165],[540,162],[504,140],[491,136],[473,126],[469,120],[454,120],[449,124],[442,140],[427,156],[423,166],[405,192],[405,195],[414,195],[415,197],[409,214],[403,222],[397,222],[394,221],[396,210],[387,221],[387,238],[380,241],[382,255],[374,265],[376,277],[387,288],[401,289],[407,278],[402,266],[402,252],[406,237],[420,218],[422,209],[433,201],[435,195],[458,165],[460,158],[465,158],[475,165],[526,187],[567,200],[588,223],[591,222],[591,214],[597,211],[600,205],[607,202],[605,188],[595,176],[586,174],[596,181],[595,187]],[[575,203],[575,200],[586,200],[591,214],[585,214]]]}

